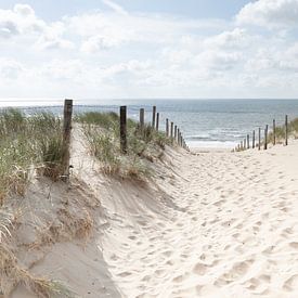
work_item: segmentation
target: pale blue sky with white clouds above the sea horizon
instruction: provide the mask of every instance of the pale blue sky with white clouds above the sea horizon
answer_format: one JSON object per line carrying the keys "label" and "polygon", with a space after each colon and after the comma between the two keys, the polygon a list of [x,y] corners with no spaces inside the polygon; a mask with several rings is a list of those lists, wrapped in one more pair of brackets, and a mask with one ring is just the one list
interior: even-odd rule
{"label": "pale blue sky with white clouds above the sea horizon", "polygon": [[0,99],[298,99],[298,0],[0,0]]}

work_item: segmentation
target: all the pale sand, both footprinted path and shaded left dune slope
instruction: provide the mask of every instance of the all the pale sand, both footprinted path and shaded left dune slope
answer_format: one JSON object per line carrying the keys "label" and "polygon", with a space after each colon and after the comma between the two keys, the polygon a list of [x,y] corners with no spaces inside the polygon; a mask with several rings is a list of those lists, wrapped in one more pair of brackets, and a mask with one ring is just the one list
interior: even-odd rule
{"label": "all the pale sand, both footprinted path and shaded left dune slope", "polygon": [[[53,186],[49,203],[35,189],[30,204],[42,200],[48,216],[60,206],[61,222],[70,212],[88,228],[89,218],[90,231],[67,241],[73,230],[61,226],[64,236],[38,247],[17,230],[30,274],[78,297],[297,297],[296,140],[238,153],[166,147],[148,183],[106,177],[81,140],[76,131],[70,190]],[[36,296],[20,285],[11,297]]]}

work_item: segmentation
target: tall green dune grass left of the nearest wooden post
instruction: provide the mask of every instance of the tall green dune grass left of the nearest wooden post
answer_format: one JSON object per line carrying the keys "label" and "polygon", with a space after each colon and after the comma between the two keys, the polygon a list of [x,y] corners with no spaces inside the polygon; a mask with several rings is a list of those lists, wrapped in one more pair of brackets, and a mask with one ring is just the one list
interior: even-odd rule
{"label": "tall green dune grass left of the nearest wooden post", "polygon": [[62,158],[62,125],[52,114],[0,113],[0,206],[10,193],[23,195],[33,166],[56,179]]}

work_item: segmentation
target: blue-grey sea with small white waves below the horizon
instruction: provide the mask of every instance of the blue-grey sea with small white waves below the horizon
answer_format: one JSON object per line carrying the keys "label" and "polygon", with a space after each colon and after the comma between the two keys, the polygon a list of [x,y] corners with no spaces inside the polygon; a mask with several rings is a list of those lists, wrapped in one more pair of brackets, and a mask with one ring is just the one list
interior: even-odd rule
{"label": "blue-grey sea with small white waves below the horizon", "polygon": [[[298,100],[75,100],[74,113],[90,111],[119,112],[120,105],[128,108],[128,117],[138,120],[141,107],[145,120],[152,120],[155,105],[160,115],[159,128],[166,129],[166,118],[177,125],[190,147],[233,148],[247,134],[265,125],[272,128],[298,117]],[[49,111],[62,114],[63,100],[0,100],[0,108],[14,106],[24,112]]]}

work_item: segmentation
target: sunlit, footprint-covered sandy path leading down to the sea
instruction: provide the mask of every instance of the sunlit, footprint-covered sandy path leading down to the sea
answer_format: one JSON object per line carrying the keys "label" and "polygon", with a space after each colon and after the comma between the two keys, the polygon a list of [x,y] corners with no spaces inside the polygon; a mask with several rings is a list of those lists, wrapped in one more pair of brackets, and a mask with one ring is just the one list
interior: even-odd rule
{"label": "sunlit, footprint-covered sandy path leading down to the sea", "polygon": [[169,154],[155,190],[94,167],[83,174],[101,198],[98,243],[121,295],[298,297],[298,143]]}

